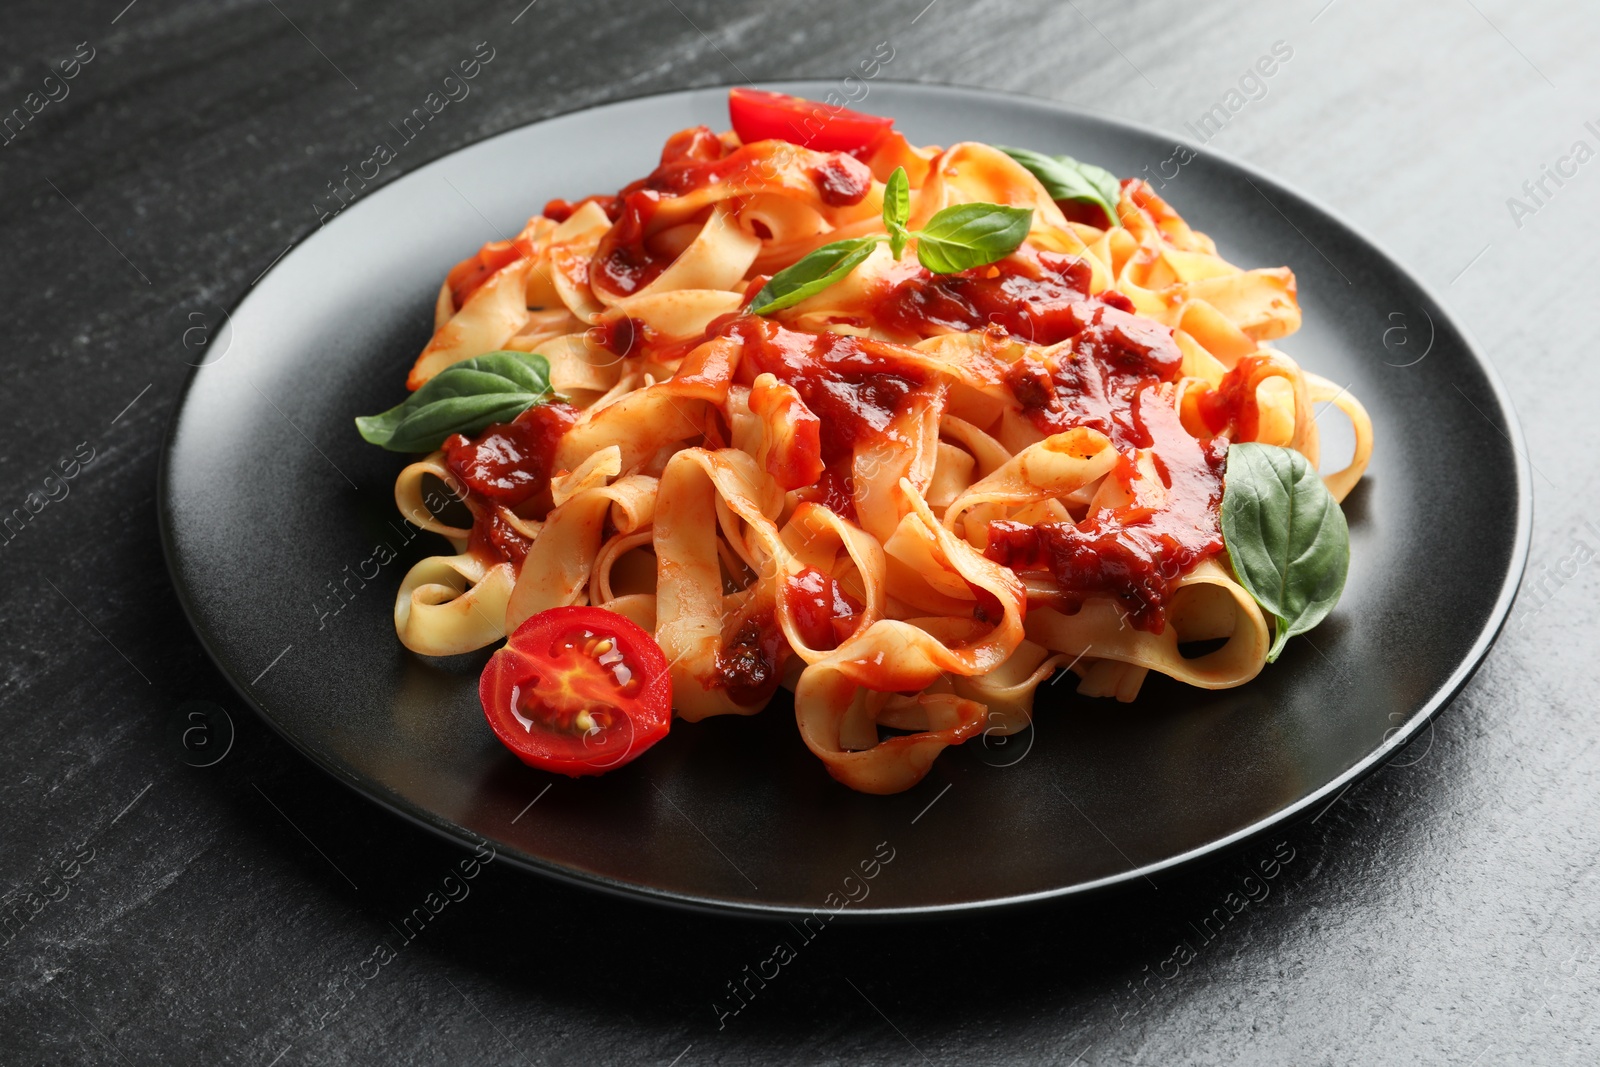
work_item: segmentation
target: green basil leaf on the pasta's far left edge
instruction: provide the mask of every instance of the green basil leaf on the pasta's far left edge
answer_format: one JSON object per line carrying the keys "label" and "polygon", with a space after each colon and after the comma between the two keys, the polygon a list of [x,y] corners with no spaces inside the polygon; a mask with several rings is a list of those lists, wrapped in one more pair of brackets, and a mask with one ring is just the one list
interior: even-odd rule
{"label": "green basil leaf on the pasta's far left edge", "polygon": [[550,365],[530,352],[490,352],[451,363],[382,414],[355,421],[373,445],[397,453],[430,453],[451,434],[477,434],[510,422],[555,397]]}

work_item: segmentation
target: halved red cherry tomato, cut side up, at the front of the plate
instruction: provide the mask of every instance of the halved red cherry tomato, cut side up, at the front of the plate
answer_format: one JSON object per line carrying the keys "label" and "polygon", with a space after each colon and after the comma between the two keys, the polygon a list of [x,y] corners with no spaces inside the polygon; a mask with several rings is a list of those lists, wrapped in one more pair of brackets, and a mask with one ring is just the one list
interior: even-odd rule
{"label": "halved red cherry tomato, cut side up, at the front of the plate", "polygon": [[672,675],[661,646],[603,608],[533,616],[483,667],[478,699],[518,760],[557,774],[605,774],[672,726]]}

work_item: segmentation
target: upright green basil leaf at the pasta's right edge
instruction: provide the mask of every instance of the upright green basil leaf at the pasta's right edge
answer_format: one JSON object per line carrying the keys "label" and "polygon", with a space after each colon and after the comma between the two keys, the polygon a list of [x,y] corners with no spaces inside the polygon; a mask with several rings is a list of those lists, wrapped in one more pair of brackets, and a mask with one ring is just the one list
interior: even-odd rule
{"label": "upright green basil leaf at the pasta's right edge", "polygon": [[1277,621],[1270,664],[1339,603],[1350,530],[1322,477],[1293,448],[1232,445],[1222,483],[1222,541],[1234,574]]}

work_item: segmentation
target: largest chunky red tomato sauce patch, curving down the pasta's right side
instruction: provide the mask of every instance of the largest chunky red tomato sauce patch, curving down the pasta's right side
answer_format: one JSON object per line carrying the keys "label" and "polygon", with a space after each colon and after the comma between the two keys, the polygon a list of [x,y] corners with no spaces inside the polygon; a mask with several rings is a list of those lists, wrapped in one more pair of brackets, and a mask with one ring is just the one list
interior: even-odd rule
{"label": "largest chunky red tomato sauce patch, curving down the pasta's right side", "polygon": [[[1022,414],[1043,434],[1104,434],[1122,453],[1110,477],[1128,486],[1136,450],[1154,450],[1165,499],[1134,499],[1082,523],[995,522],[986,555],[1016,571],[1051,574],[1069,611],[1088,597],[1110,597],[1134,627],[1160,633],[1173,582],[1222,549],[1227,445],[1195,440],[1160,392],[1182,370],[1173,331],[1134,315],[1123,294],[1090,296],[1088,288],[1090,270],[1077,258],[1024,248],[992,267],[920,270],[893,286],[875,314],[880,326],[912,336],[997,323],[1032,344],[1070,342],[1008,370]],[[1146,490],[1144,498],[1152,496]]]}

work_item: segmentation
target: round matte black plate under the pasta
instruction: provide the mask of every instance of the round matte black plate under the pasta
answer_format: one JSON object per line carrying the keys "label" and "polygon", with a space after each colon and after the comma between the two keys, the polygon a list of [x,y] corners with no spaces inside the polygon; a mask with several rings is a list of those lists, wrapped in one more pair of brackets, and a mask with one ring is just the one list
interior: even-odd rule
{"label": "round matte black plate under the pasta", "polygon": [[[1122,705],[1045,686],[1034,734],[950,750],[898,797],[835,784],[782,697],[755,718],[678,723],[602,779],[523,768],[478,710],[483,656],[424,661],[395,640],[395,587],[443,542],[400,522],[403,461],[350,419],[403,395],[450,264],[550,197],[646,173],[674,130],[723,128],[725,91],[696,90],[422,166],[317,229],[234,310],[174,418],[160,509],[194,627],[274,728],[378,803],[542,873],[765,913],[866,893],[843,913],[890,915],[1074,894],[1216,853],[1315,811],[1466,683],[1523,568],[1530,486],[1504,390],[1419,282],[1264,174],[1210,152],[1179,166],[1154,131],[957,88],[874,83],[866,106],[914,142],[1176,171],[1163,195],[1224,256],[1294,269],[1306,325],[1286,350],[1349,384],[1378,427],[1346,502],[1352,561],[1334,616],[1240,689],[1152,677]],[[398,558],[378,566],[382,544]],[[893,861],[870,867],[885,841]],[[846,883],[864,861],[877,877]]]}

